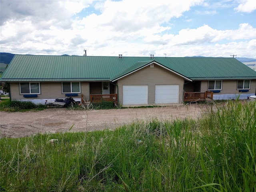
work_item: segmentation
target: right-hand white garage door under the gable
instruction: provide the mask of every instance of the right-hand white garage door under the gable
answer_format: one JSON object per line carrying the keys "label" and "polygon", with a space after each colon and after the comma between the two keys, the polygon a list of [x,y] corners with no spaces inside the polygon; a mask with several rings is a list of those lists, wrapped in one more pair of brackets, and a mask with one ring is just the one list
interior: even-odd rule
{"label": "right-hand white garage door under the gable", "polygon": [[178,103],[179,85],[156,85],[155,104]]}

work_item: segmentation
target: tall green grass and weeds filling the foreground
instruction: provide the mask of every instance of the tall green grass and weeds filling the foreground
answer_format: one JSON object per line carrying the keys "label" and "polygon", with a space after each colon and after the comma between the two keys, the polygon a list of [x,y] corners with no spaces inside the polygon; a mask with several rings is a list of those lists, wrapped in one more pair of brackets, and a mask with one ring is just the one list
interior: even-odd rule
{"label": "tall green grass and weeds filling the foreground", "polygon": [[199,120],[2,138],[0,191],[255,191],[255,117],[228,102]]}

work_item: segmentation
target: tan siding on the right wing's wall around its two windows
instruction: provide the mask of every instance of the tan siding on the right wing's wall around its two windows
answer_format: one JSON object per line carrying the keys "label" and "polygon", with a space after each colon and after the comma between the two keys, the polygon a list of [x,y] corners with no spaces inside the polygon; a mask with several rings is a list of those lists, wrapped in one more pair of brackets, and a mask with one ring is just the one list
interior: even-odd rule
{"label": "tan siding on the right wing's wall around its two windows", "polygon": [[[246,94],[255,94],[256,80],[251,80],[250,90]],[[202,81],[201,92],[208,90],[208,81]],[[222,80],[222,90],[214,94],[240,94],[237,90],[237,80]]]}

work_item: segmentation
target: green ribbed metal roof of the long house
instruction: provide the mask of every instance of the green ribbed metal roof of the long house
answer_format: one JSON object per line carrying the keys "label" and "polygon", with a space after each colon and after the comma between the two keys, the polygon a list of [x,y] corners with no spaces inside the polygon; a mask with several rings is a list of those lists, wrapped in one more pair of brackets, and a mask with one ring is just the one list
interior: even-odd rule
{"label": "green ribbed metal roof of the long house", "polygon": [[114,80],[152,61],[191,80],[256,79],[256,71],[235,58],[15,55],[0,80]]}

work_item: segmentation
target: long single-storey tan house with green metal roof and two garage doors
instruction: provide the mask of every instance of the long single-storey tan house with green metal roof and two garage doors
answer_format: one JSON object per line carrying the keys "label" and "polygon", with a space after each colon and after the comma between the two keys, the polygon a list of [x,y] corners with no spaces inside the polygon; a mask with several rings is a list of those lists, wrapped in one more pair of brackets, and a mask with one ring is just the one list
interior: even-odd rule
{"label": "long single-storey tan house with green metal roof and two garage doors", "polygon": [[123,106],[246,99],[256,71],[235,58],[15,55],[0,81],[10,99],[44,104],[72,97]]}

